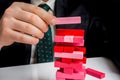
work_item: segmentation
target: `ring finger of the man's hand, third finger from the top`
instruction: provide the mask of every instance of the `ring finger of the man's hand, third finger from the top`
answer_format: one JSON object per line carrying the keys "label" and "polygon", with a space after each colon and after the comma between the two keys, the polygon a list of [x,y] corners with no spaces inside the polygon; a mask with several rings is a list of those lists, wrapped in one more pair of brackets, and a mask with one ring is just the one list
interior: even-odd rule
{"label": "ring finger of the man's hand, third finger from the top", "polygon": [[44,36],[44,33],[35,26],[15,19],[14,19],[14,25],[12,25],[12,29],[18,32],[22,32],[34,36],[36,38],[43,38]]}

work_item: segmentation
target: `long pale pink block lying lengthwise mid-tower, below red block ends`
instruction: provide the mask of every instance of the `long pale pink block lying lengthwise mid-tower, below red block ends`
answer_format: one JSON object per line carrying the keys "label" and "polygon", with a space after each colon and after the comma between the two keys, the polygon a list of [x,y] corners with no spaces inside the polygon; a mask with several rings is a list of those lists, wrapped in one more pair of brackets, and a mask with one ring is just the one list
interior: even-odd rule
{"label": "long pale pink block lying lengthwise mid-tower, below red block ends", "polygon": [[65,52],[54,52],[54,57],[69,58],[69,59],[83,59],[83,52],[74,51],[72,54]]}

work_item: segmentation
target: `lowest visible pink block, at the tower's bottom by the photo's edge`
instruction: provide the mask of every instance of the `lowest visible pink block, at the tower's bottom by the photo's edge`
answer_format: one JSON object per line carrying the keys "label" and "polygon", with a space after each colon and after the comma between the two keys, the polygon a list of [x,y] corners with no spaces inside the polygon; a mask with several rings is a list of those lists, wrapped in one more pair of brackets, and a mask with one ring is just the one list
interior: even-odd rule
{"label": "lowest visible pink block, at the tower's bottom by the photo's edge", "polygon": [[84,72],[73,73],[73,74],[65,74],[63,72],[57,71],[56,76],[60,78],[66,79],[85,79]]}

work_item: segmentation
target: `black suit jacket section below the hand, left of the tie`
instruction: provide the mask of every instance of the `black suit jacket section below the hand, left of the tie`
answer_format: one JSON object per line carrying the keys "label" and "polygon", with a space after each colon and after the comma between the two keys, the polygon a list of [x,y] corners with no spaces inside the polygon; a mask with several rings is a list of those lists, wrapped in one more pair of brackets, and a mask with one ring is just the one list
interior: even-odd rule
{"label": "black suit jacket section below the hand, left of the tie", "polygon": [[2,47],[0,51],[0,67],[18,66],[30,63],[31,45],[13,43]]}

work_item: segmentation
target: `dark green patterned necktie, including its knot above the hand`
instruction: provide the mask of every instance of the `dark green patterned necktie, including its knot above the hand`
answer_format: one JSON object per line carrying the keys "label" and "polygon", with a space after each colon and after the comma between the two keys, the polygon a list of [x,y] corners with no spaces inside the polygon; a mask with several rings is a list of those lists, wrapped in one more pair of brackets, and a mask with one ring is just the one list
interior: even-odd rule
{"label": "dark green patterned necktie, including its knot above the hand", "polygon": [[[50,9],[47,4],[40,4],[46,11]],[[45,33],[44,38],[39,40],[37,44],[37,63],[52,62],[53,61],[53,42],[51,28]]]}

